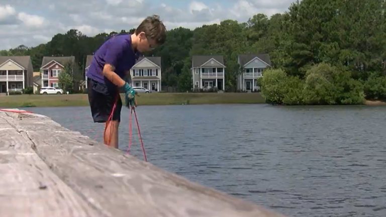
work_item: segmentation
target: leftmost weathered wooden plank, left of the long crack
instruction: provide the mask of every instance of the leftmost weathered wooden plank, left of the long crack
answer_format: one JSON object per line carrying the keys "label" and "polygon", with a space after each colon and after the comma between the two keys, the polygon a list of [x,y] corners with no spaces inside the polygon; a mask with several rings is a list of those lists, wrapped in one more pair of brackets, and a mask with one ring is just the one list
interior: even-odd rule
{"label": "leftmost weathered wooden plank, left of the long crack", "polygon": [[1,216],[103,216],[48,168],[29,139],[7,129],[0,141]]}

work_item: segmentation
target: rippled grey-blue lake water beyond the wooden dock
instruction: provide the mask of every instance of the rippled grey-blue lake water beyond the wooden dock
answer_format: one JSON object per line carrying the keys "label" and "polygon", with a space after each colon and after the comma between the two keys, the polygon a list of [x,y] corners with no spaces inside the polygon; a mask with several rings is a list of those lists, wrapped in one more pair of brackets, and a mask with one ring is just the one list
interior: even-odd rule
{"label": "rippled grey-blue lake water beyond the wooden dock", "polygon": [[[102,141],[88,107],[29,110]],[[140,106],[137,115],[148,161],[192,181],[288,216],[386,216],[386,106]],[[122,119],[126,150],[125,108]]]}

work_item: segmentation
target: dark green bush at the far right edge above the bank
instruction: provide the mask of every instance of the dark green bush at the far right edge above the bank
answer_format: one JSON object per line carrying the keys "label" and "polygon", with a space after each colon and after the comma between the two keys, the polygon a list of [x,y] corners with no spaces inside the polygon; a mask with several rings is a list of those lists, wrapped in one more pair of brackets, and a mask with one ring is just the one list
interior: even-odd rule
{"label": "dark green bush at the far right edge above the bank", "polygon": [[371,73],[363,82],[363,90],[368,99],[386,99],[386,76]]}

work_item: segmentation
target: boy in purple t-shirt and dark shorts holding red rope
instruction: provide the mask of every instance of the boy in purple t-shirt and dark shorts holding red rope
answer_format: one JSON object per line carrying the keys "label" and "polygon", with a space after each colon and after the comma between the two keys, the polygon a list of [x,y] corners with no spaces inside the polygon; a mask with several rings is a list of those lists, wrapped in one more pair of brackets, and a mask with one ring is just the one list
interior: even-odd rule
{"label": "boy in purple t-shirt and dark shorts holding red rope", "polygon": [[[136,93],[123,78],[130,78],[130,69],[136,63],[138,53],[153,50],[165,40],[165,26],[159,17],[154,15],[144,19],[134,34],[113,36],[95,52],[86,74],[88,101],[94,123],[106,123],[106,145],[118,148],[118,127],[122,108],[119,89],[124,90],[126,100],[131,106],[135,102]],[[109,121],[113,108],[114,113]]]}

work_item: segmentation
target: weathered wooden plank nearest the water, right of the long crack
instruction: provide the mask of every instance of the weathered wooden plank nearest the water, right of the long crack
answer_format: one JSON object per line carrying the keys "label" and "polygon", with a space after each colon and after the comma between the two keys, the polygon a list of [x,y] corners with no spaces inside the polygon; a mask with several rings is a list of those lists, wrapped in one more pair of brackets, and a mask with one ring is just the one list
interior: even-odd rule
{"label": "weathered wooden plank nearest the water, right of the long crack", "polygon": [[[18,116],[19,117],[19,116]],[[48,118],[15,118],[38,156],[105,216],[282,216],[254,203],[190,182],[117,149],[95,143]]]}

